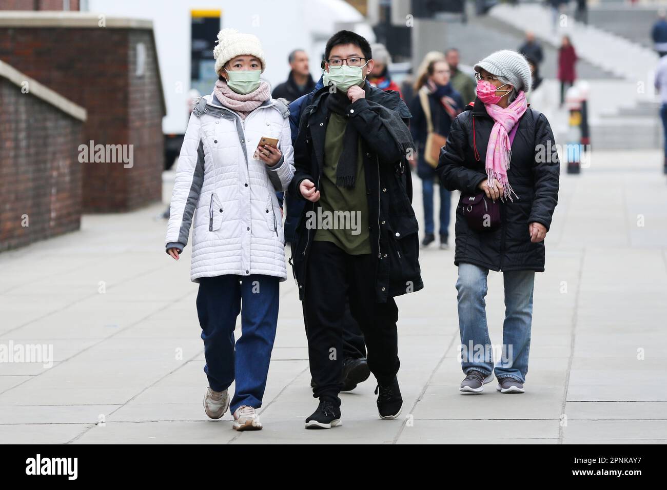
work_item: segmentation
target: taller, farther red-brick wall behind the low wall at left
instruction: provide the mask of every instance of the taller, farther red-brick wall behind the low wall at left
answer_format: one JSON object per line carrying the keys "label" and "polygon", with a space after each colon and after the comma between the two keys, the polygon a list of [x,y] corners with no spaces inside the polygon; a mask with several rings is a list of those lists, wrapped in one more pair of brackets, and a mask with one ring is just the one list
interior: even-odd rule
{"label": "taller, farther red-brick wall behind the low wall at left", "polygon": [[[152,39],[148,29],[0,27],[0,59],[87,109],[79,144],[133,145],[131,168],[81,163],[84,212],[161,200],[164,107]],[[133,66],[139,41],[146,48],[143,77]]]}

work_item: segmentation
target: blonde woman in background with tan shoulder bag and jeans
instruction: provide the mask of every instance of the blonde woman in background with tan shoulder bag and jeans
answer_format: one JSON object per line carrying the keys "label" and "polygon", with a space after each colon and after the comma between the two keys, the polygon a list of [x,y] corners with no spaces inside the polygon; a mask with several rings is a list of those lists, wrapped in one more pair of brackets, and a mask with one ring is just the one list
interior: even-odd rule
{"label": "blonde woman in background with tan shoulder bag and jeans", "polygon": [[[424,239],[428,247],[436,240],[434,223],[434,185],[440,148],[447,141],[454,118],[462,111],[461,95],[450,83],[450,65],[446,59],[430,61],[414,87],[417,97],[412,101],[410,132],[417,145],[417,175],[422,179],[424,202]],[[439,182],[438,182],[439,183]],[[443,185],[440,189],[440,248],[448,248],[451,213],[451,193]]]}

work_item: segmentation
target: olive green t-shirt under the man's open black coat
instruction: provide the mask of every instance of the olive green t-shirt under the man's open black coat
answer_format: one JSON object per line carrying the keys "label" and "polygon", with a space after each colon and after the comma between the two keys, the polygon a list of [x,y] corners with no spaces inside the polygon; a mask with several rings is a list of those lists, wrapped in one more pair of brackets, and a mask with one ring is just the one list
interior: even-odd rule
{"label": "olive green t-shirt under the man's open black coat", "polygon": [[371,253],[361,137],[357,150],[354,189],[336,185],[336,169],[343,152],[343,137],[347,125],[346,117],[330,113],[324,137],[324,168],[319,183],[322,219],[317,223],[314,239],[331,241],[350,255],[361,255]]}

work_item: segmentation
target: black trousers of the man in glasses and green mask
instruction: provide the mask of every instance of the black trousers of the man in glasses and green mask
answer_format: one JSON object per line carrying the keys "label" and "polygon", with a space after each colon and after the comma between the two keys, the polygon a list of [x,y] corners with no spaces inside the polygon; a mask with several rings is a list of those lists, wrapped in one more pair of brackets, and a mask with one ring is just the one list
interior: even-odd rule
{"label": "black trousers of the man in glasses and green mask", "polygon": [[368,367],[383,385],[394,379],[400,367],[398,307],[394,298],[376,303],[372,255],[348,255],[327,241],[313,241],[310,246],[302,305],[310,373],[317,384],[313,397],[340,405],[346,301],[364,333]]}

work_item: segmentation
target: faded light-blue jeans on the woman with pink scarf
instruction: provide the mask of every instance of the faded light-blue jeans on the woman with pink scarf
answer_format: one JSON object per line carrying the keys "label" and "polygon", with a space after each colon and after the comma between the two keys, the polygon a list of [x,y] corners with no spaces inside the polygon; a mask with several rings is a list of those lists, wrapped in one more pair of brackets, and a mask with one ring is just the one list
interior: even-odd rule
{"label": "faded light-blue jeans on the woman with pink scarf", "polygon": [[[478,265],[460,263],[456,290],[458,291],[461,361],[464,373],[492,372],[497,378],[510,377],[526,382],[530,326],[533,316],[534,271],[503,273],[505,287],[505,321],[503,344],[492,347],[486,324],[486,278],[489,270]],[[494,369],[494,349],[500,357]]]}

